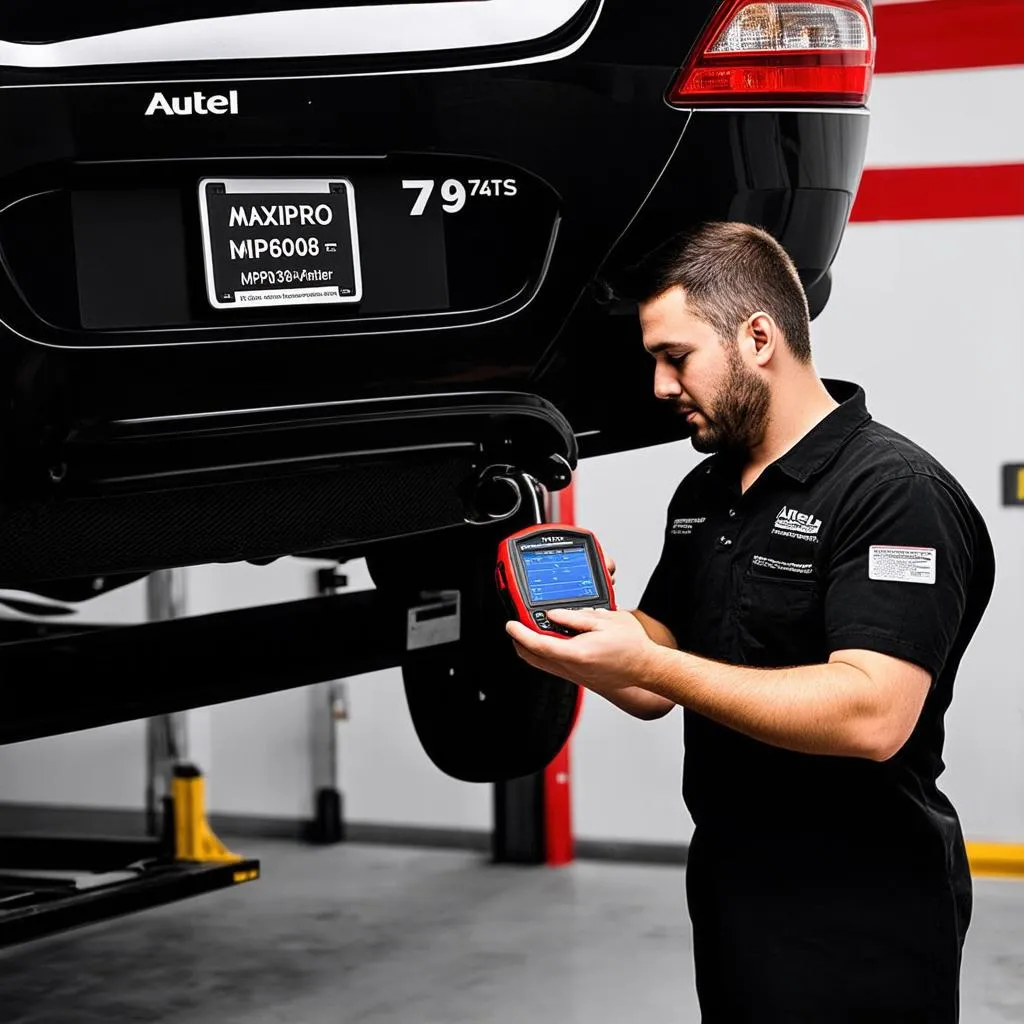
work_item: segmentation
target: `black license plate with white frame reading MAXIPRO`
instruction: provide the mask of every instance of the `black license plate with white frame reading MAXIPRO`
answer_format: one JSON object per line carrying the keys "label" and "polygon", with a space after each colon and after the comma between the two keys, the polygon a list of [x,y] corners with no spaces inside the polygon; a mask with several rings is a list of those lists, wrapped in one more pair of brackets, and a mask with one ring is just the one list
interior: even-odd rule
{"label": "black license plate with white frame reading MAXIPRO", "polygon": [[346,178],[204,178],[206,290],[217,309],[358,302],[355,194]]}

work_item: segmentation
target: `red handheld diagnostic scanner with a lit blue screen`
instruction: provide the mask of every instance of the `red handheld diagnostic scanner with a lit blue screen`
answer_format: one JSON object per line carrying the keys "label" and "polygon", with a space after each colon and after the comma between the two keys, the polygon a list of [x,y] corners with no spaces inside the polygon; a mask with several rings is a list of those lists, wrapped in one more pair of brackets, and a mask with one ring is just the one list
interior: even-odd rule
{"label": "red handheld diagnostic scanner with a lit blue screen", "polygon": [[541,523],[506,538],[498,547],[495,582],[508,617],[546,636],[575,636],[548,618],[552,608],[615,610],[601,546],[579,526]]}

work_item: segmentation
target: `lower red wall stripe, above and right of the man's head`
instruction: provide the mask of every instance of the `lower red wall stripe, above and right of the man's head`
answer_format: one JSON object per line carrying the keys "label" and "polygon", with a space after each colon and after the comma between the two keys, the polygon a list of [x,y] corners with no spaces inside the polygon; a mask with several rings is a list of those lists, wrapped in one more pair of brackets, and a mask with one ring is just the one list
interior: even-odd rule
{"label": "lower red wall stripe, above and right of the man's head", "polygon": [[867,168],[851,221],[1024,216],[1024,164]]}

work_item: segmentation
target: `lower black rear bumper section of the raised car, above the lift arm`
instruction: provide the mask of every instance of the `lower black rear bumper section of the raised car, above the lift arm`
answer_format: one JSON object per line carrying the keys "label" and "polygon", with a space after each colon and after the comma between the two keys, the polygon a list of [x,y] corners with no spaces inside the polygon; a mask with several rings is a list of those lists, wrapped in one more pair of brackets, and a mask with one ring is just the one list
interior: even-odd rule
{"label": "lower black rear bumper section of the raised car, above the lift arm", "polygon": [[497,478],[515,467],[563,487],[577,444],[548,402],[496,392],[117,422],[48,461],[0,504],[0,586],[493,521],[517,508]]}

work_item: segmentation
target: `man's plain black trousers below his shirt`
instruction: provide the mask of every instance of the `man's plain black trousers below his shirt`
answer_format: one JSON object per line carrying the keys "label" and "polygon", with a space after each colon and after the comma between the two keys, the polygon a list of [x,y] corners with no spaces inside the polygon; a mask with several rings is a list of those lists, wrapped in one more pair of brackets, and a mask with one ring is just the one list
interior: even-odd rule
{"label": "man's plain black trousers below his shirt", "polygon": [[956,1024],[963,870],[845,839],[701,835],[686,895],[703,1024]]}

